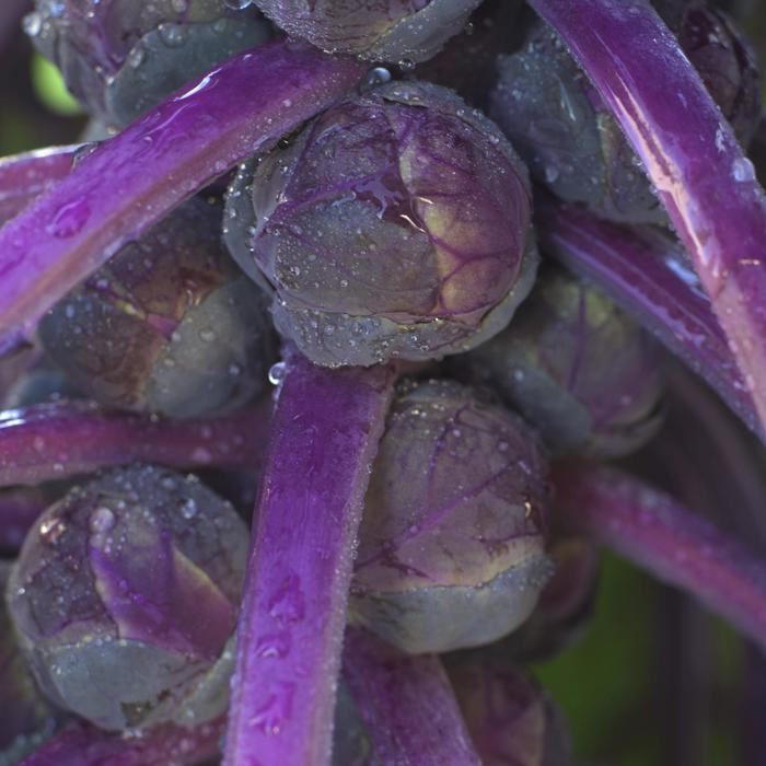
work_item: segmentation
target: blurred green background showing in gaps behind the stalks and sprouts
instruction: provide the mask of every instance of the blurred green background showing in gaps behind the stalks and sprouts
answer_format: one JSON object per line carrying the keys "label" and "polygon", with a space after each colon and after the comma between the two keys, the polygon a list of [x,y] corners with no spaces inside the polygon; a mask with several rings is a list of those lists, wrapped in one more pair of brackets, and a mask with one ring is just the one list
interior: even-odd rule
{"label": "blurred green background showing in gaps behind the stalks and sprouts", "polygon": [[[766,1],[753,3],[747,28],[766,42]],[[55,68],[21,34],[0,57],[0,153],[77,140],[85,120]],[[726,626],[607,556],[585,632],[533,670],[564,708],[583,766],[733,766],[743,763],[744,661]]]}

